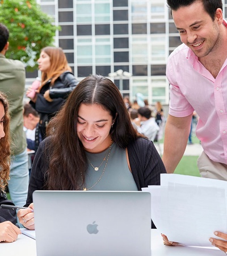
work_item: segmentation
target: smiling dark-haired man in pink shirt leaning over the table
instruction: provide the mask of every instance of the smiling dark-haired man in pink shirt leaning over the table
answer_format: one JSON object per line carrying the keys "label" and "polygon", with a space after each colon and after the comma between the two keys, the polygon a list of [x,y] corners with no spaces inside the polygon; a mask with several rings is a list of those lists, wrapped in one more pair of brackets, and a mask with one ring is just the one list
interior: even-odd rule
{"label": "smiling dark-haired man in pink shirt leaning over the table", "polygon": [[163,162],[174,172],[187,145],[194,110],[204,152],[203,177],[227,180],[227,23],[222,1],[167,1],[182,45],[167,61],[170,109]]}

